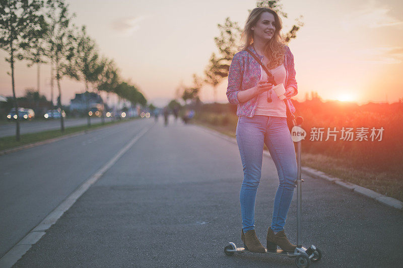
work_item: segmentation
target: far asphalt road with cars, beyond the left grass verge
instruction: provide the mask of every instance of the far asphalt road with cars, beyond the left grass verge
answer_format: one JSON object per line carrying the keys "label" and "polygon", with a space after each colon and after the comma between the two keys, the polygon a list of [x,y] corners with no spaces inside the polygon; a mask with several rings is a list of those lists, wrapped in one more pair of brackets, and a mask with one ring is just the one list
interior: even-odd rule
{"label": "far asphalt road with cars, beyond the left grass verge", "polygon": [[[111,121],[111,118],[105,118],[105,122]],[[87,125],[87,118],[66,118],[64,127],[74,127]],[[100,117],[92,117],[91,124],[101,123]],[[22,121],[20,122],[20,134],[34,133],[45,130],[60,129],[60,119],[51,119],[49,121]],[[16,134],[16,122],[4,122],[0,124],[0,137],[13,136]]]}

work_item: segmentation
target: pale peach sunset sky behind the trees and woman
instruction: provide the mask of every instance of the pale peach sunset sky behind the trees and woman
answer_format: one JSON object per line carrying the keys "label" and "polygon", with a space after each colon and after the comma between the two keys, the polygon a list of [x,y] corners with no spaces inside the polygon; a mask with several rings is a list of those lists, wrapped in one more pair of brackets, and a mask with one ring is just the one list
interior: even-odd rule
{"label": "pale peach sunset sky behind the trees and woman", "polygon": [[[113,59],[121,76],[149,103],[165,105],[180,84],[190,86],[192,74],[203,76],[213,52],[217,25],[226,17],[243,28],[251,0],[66,0],[74,23],[86,25],[102,55]],[[294,55],[298,95],[317,92],[323,100],[359,104],[397,102],[403,98],[403,1],[283,0],[283,33],[303,16],[304,26],[288,46]],[[0,50],[0,95],[12,96],[10,64]],[[37,88],[37,66],[16,62],[17,97]],[[50,67],[40,66],[40,93],[50,99]],[[63,78],[63,105],[84,82]],[[217,101],[227,103],[227,79],[218,87]],[[56,91],[53,100],[56,100]],[[105,96],[103,96],[105,97]],[[201,88],[203,102],[214,101],[212,87]],[[111,97],[110,102],[116,99]]]}

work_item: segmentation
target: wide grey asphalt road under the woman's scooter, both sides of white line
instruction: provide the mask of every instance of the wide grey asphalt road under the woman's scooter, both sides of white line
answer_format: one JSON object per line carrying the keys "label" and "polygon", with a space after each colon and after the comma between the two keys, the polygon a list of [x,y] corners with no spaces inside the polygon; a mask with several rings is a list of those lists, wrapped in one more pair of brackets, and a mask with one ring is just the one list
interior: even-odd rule
{"label": "wide grey asphalt road under the woman's scooter, both sides of white line", "polygon": [[[285,256],[224,254],[230,241],[242,246],[239,190],[243,173],[238,147],[201,127],[172,120],[164,127],[161,121],[14,266],[295,267],[294,259]],[[22,238],[148,124],[154,120],[131,121],[0,156],[2,168],[10,165],[7,172],[15,169],[17,161],[38,159],[29,165],[30,172],[7,177],[2,173],[1,240],[9,232],[19,232]],[[52,160],[57,155],[63,156]],[[54,162],[45,170],[38,168],[45,159]],[[327,181],[303,178],[302,242],[323,252],[311,267],[401,267],[402,212]],[[5,182],[8,188],[3,190]],[[255,209],[256,233],[263,244],[277,186],[273,160],[264,157]],[[296,192],[285,231],[295,243]],[[18,237],[9,238],[8,244]]]}

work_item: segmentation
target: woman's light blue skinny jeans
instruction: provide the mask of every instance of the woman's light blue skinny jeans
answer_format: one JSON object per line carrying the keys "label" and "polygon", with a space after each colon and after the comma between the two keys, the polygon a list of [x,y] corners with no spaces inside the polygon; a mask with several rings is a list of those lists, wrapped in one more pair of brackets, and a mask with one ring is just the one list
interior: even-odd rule
{"label": "woman's light blue skinny jeans", "polygon": [[284,229],[293,199],[297,178],[297,159],[294,143],[287,126],[287,118],[255,115],[240,116],[236,127],[236,140],[243,166],[241,203],[243,231],[254,229],[254,211],[257,188],[260,183],[263,159],[263,142],[266,144],[279,175],[279,187],[274,200],[272,229]]}

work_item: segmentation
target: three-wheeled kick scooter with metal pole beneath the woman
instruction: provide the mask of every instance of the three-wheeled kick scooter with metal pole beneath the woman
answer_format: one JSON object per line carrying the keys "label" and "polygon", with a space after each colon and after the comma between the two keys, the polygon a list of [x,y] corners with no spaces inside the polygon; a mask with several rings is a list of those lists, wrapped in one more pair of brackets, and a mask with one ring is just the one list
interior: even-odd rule
{"label": "three-wheeled kick scooter with metal pole beneath the woman", "polygon": [[[296,126],[301,127],[303,121],[304,119],[302,117],[297,117]],[[315,262],[322,258],[322,251],[318,247],[311,245],[310,247],[306,248],[301,244],[301,183],[304,182],[304,180],[301,179],[301,140],[297,142],[297,165],[297,180],[294,181],[297,183],[297,247],[294,252],[285,251],[282,249],[268,250],[267,248],[265,249],[265,252],[251,252],[249,250],[245,250],[244,247],[237,247],[235,243],[229,242],[229,245],[224,248],[224,253],[227,256],[232,256],[234,253],[244,252],[278,254],[288,257],[295,257],[295,264],[299,268],[307,268],[311,264],[311,261]]]}

